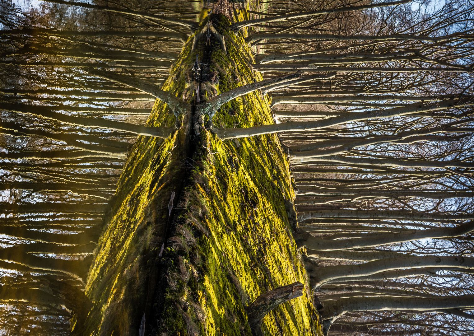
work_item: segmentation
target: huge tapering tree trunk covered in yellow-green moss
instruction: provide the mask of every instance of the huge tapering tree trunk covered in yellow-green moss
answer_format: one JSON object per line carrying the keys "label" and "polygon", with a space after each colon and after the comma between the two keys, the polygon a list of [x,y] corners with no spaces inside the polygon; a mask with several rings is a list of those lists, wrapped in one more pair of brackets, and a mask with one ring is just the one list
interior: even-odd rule
{"label": "huge tapering tree trunk covered in yellow-green moss", "polygon": [[[203,108],[214,96],[262,81],[246,34],[234,34],[230,19],[202,11],[162,87],[189,109],[157,100],[146,126],[171,135],[140,136],[129,154],[89,272],[93,308],[84,335],[251,335],[250,302],[306,282],[277,136],[222,141],[209,130],[273,123],[261,91]],[[320,333],[308,286],[269,313],[262,329]]]}

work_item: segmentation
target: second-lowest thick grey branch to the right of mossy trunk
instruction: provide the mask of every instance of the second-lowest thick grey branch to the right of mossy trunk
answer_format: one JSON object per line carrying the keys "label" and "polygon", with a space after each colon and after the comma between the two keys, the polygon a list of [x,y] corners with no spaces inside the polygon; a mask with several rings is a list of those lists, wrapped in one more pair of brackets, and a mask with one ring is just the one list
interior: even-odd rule
{"label": "second-lowest thick grey branch to the right of mossy trunk", "polygon": [[472,270],[474,269],[474,258],[442,255],[407,256],[379,259],[362,264],[326,266],[311,273],[311,282],[313,288],[318,289],[333,280],[344,281],[344,278],[365,277],[380,272],[425,267]]}

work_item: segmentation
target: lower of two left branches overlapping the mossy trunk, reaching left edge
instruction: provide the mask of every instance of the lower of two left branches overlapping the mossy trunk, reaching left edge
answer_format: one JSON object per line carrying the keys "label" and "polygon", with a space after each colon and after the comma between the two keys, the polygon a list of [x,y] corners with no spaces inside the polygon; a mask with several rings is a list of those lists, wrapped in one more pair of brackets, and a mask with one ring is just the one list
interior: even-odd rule
{"label": "lower of two left branches overlapping the mossy trunk, reaching left edge", "polygon": [[[64,122],[70,125],[86,126],[86,127],[100,127],[105,129],[115,129],[118,131],[124,131],[128,133],[139,134],[143,136],[156,136],[161,138],[167,138],[173,131],[173,127],[147,127],[129,124],[121,121],[106,120],[101,118],[85,118],[85,117],[72,117],[59,112],[52,111],[45,107],[33,106],[26,104],[16,103],[0,103],[0,109],[18,112],[22,114],[31,114],[38,117],[44,117],[54,119],[57,121]],[[38,155],[40,155],[38,153]],[[88,156],[88,155],[84,155]],[[84,157],[78,156],[78,157]],[[37,156],[35,156],[37,157]]]}

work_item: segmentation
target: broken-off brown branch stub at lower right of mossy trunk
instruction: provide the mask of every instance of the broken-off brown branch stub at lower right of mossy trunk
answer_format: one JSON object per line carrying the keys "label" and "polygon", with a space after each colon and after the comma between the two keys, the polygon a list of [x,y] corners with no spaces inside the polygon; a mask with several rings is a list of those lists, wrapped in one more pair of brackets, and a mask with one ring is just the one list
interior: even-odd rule
{"label": "broken-off brown branch stub at lower right of mossy trunk", "polygon": [[304,285],[297,281],[291,285],[278,287],[260,295],[246,308],[247,320],[252,328],[252,334],[254,336],[263,336],[261,326],[265,315],[282,303],[303,295],[303,288]]}

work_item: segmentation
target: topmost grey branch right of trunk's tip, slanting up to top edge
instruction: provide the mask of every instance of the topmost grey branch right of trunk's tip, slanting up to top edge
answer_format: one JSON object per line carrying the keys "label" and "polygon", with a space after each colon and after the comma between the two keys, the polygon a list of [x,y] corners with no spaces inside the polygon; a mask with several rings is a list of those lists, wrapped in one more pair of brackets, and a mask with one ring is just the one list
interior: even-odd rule
{"label": "topmost grey branch right of trunk's tip, slanting up to top edge", "polygon": [[239,31],[240,29],[244,27],[283,21],[283,20],[288,20],[292,18],[302,18],[302,17],[307,17],[307,16],[317,16],[317,15],[324,15],[324,14],[331,14],[331,13],[339,13],[339,12],[345,12],[349,10],[361,10],[361,9],[371,9],[371,8],[377,8],[377,7],[394,6],[394,5],[399,5],[399,4],[407,3],[407,2],[410,2],[410,0],[382,2],[382,3],[364,5],[364,6],[347,6],[347,7],[340,7],[336,9],[313,10],[313,11],[308,11],[308,12],[278,15],[278,16],[272,16],[272,17],[267,17],[267,18],[257,18],[255,20],[247,20],[247,21],[233,23],[232,25],[230,25],[230,29]]}

